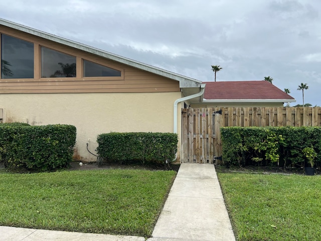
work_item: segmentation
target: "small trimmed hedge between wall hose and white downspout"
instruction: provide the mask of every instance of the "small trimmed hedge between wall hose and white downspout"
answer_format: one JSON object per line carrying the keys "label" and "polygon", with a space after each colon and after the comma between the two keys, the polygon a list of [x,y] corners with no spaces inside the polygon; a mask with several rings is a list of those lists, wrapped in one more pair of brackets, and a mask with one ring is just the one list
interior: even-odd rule
{"label": "small trimmed hedge between wall hose and white downspout", "polygon": [[108,133],[97,137],[100,158],[123,163],[140,161],[168,164],[177,152],[178,136],[173,133]]}

